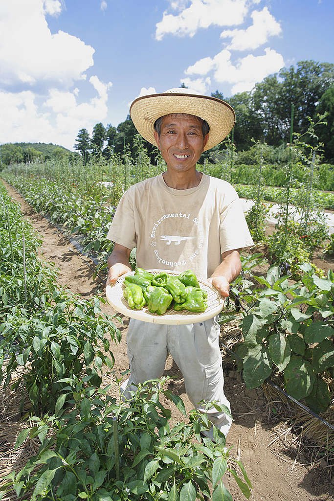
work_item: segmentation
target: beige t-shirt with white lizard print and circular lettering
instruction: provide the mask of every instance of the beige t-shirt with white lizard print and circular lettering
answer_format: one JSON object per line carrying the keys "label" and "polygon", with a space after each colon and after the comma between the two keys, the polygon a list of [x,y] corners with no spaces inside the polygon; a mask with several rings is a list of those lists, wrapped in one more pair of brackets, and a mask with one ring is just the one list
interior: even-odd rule
{"label": "beige t-shirt with white lizard print and circular lettering", "polygon": [[138,267],[190,269],[204,280],[226,250],[253,245],[235,189],[206,174],[198,186],[184,190],[167,186],[162,174],[131,186],[107,236],[137,247]]}

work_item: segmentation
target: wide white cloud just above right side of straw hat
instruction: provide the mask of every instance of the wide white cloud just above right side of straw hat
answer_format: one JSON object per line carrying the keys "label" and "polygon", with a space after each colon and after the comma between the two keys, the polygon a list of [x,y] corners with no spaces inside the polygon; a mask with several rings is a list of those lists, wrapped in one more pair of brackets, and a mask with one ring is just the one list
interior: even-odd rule
{"label": "wide white cloud just above right side of straw hat", "polygon": [[277,72],[283,66],[284,60],[281,54],[268,47],[264,49],[262,56],[248,54],[235,64],[231,61],[230,51],[223,49],[214,58],[204,58],[189,66],[185,74],[204,77],[213,70],[216,82],[231,84],[231,92],[235,94],[251,90],[256,82]]}

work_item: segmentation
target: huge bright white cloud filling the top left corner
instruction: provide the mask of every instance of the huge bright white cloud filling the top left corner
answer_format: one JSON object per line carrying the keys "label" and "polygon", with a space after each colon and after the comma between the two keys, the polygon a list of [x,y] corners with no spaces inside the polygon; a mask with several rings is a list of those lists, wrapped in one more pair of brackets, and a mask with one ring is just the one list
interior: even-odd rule
{"label": "huge bright white cloud filling the top left corner", "polygon": [[85,78],[95,51],[68,33],[51,33],[45,16],[57,15],[60,10],[58,0],[1,3],[0,83],[52,81],[70,86]]}

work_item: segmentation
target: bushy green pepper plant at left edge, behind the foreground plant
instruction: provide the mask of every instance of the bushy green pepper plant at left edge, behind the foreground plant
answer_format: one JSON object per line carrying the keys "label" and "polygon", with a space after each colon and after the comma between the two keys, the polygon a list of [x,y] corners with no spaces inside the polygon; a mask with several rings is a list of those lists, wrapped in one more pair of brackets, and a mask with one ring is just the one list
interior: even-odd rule
{"label": "bushy green pepper plant at left edge, behind the foreground plant", "polygon": [[100,386],[102,367],[114,364],[109,339],[121,339],[113,321],[101,315],[103,298],[86,301],[55,290],[53,304],[44,301],[35,315],[13,307],[0,327],[0,382],[6,389],[18,371],[12,390],[28,392],[33,411],[41,414],[53,412],[60,396],[64,404],[70,396],[64,387],[77,378]]}

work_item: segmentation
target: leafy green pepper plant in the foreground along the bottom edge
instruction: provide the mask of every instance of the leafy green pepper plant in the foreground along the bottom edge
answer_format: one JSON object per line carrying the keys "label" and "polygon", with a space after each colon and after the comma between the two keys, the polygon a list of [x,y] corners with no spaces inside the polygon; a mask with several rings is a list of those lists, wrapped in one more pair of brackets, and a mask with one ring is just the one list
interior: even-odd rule
{"label": "leafy green pepper plant in the foreground along the bottom edge", "polygon": [[38,437],[41,446],[21,471],[8,475],[6,491],[32,501],[232,501],[222,481],[229,473],[248,499],[251,483],[226,451],[224,435],[214,428],[216,443],[201,441],[200,432],[210,426],[206,414],[191,411],[188,423],[171,427],[171,411],[159,396],[186,412],[164,382],[140,385],[131,400],[119,403],[108,396],[109,388],[79,386],[73,412],[34,418],[34,426],[19,434],[16,447],[28,436]]}

